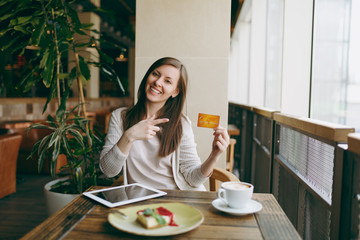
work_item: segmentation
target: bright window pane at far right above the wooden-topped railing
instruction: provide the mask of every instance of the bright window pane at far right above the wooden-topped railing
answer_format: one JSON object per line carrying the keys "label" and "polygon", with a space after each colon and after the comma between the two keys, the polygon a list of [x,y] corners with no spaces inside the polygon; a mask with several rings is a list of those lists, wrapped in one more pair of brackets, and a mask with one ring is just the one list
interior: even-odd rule
{"label": "bright window pane at far right above the wooden-topped railing", "polygon": [[360,130],[360,3],[318,0],[314,8],[310,117]]}

